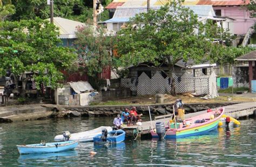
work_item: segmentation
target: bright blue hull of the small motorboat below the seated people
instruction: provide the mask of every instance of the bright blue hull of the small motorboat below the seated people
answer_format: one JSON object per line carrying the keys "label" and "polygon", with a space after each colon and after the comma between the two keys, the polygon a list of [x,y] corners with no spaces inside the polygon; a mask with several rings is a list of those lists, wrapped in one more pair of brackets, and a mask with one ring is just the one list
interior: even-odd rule
{"label": "bright blue hull of the small motorboat below the seated people", "polygon": [[[116,134],[117,135],[114,135]],[[102,139],[100,138],[102,135],[97,135],[93,137],[93,142],[95,143],[102,143]],[[112,130],[107,133],[106,141],[111,143],[119,143],[125,140],[125,132],[124,130]]]}

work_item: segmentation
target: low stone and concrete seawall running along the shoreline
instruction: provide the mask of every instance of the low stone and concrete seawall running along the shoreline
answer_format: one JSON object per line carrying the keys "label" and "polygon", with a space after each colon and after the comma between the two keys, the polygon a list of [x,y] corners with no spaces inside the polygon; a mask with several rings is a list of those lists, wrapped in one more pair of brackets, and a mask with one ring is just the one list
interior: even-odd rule
{"label": "low stone and concrete seawall running along the shoreline", "polygon": [[[124,111],[125,108],[136,106],[139,113],[152,115],[172,113],[173,104],[152,105],[124,105],[124,106],[60,106],[52,104],[44,105],[19,105],[0,108],[0,122],[28,121],[46,119],[49,117],[113,117]],[[240,118],[255,114],[256,102],[250,103],[205,103],[185,104],[185,114],[205,111],[208,108],[225,107],[225,113],[231,117]],[[73,113],[72,113],[73,112]]]}

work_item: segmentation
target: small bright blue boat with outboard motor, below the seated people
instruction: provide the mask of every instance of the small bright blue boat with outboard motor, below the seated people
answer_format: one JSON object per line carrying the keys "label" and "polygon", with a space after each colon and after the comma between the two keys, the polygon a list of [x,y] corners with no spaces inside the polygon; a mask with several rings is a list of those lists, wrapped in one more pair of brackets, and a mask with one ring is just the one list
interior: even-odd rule
{"label": "small bright blue boat with outboard motor, below the seated people", "polygon": [[102,142],[119,143],[124,140],[125,140],[124,130],[111,130],[110,132],[106,132],[105,134],[103,130],[102,134],[99,134],[93,137],[93,142],[95,143],[102,143]]}

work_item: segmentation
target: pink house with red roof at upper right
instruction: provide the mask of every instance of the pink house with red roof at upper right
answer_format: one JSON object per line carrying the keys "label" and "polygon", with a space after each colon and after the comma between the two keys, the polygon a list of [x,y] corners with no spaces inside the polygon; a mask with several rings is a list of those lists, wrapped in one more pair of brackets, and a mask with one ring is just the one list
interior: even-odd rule
{"label": "pink house with red roof at upper right", "polygon": [[247,9],[243,6],[249,3],[249,0],[199,0],[197,5],[212,5],[216,16],[234,19],[233,33],[244,36],[256,21],[256,18],[251,17],[250,11],[247,11]]}

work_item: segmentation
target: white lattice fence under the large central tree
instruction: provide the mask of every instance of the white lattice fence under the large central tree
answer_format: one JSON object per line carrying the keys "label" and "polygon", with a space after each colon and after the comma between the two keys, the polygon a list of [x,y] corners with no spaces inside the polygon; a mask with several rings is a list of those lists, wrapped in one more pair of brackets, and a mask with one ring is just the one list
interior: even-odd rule
{"label": "white lattice fence under the large central tree", "polygon": [[[218,96],[216,86],[216,75],[213,72],[210,76],[203,73],[198,77],[185,73],[181,77],[173,74],[176,83],[176,92],[196,92],[197,95]],[[154,95],[157,93],[169,93],[171,91],[171,83],[169,77],[164,78],[159,72],[149,78],[144,72],[138,78],[122,78],[121,86],[130,88],[131,91],[137,91],[137,95]]]}

